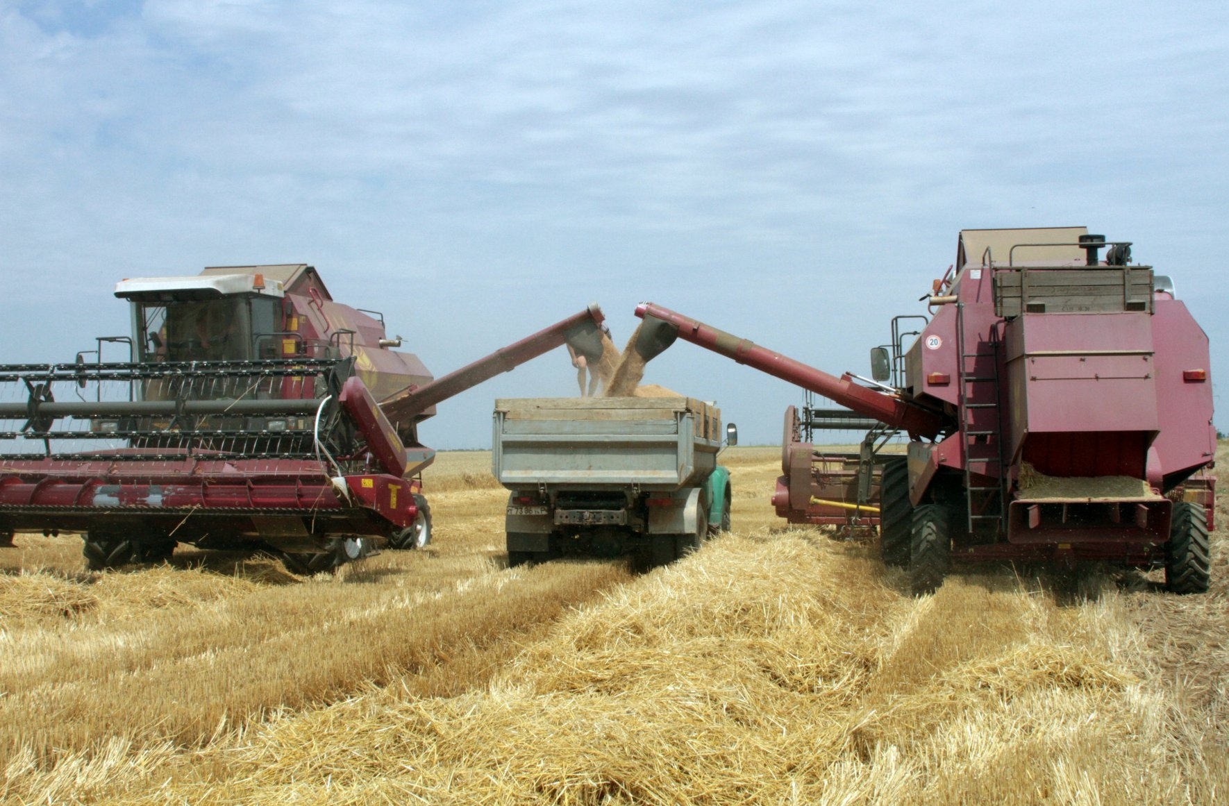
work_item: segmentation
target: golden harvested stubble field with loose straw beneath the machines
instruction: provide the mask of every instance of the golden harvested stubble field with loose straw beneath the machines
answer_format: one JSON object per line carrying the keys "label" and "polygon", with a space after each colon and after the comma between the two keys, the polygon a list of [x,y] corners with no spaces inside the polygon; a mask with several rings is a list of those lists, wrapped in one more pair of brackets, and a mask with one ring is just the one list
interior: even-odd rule
{"label": "golden harvested stubble field with loose straw beneath the machines", "polygon": [[[734,448],[735,532],[640,577],[503,566],[489,455],[426,478],[435,546],[336,579],[268,560],[81,571],[2,549],[15,802],[1208,804],[1229,786],[1213,591],[961,571],[785,528]],[[187,566],[187,568],[186,568]]]}

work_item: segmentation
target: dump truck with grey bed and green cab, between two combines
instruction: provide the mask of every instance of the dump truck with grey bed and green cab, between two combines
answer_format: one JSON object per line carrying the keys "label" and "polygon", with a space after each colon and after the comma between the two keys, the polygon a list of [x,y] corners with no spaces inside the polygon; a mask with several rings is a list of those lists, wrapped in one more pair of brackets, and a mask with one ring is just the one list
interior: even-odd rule
{"label": "dump truck with grey bed and green cab, between two combines", "polygon": [[670,563],[730,528],[715,405],[689,397],[495,402],[492,469],[509,489],[509,565],[632,555]]}

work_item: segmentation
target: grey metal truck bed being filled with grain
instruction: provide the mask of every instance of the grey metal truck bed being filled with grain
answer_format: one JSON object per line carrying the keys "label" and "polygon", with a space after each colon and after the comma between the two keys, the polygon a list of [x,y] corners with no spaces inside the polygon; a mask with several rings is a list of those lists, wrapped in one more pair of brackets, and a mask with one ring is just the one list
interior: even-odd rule
{"label": "grey metal truck bed being filled with grain", "polygon": [[708,477],[720,412],[689,397],[495,401],[492,466],[511,490],[538,485],[675,490]]}

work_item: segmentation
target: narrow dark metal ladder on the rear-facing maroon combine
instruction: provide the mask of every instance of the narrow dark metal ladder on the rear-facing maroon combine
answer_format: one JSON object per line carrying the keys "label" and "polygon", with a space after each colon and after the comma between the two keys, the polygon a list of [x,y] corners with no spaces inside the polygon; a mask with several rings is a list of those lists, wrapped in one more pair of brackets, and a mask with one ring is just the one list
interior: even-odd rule
{"label": "narrow dark metal ladder on the rear-facing maroon combine", "polygon": [[[1004,457],[1003,417],[999,407],[998,358],[1000,342],[998,328],[991,328],[991,337],[981,342],[975,335],[971,345],[965,334],[965,303],[956,303],[956,349],[959,362],[959,417],[961,450],[965,464],[965,496],[967,528],[970,534],[1005,528],[1007,515],[1007,458]],[[978,360],[983,359],[983,360]],[[989,359],[988,361],[984,359]],[[998,479],[987,484],[986,479]]]}

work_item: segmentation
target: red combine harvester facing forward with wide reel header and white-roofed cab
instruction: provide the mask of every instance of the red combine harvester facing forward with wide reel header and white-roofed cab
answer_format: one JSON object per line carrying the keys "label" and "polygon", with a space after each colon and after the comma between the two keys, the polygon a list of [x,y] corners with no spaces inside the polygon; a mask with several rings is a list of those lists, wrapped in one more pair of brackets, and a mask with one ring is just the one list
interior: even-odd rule
{"label": "red combine harvester facing forward with wide reel header and white-roofed cab", "polygon": [[[123,280],[116,296],[132,337],[0,366],[0,538],[81,532],[92,569],[177,543],[273,550],[300,573],[424,546],[435,453],[418,424],[435,404],[564,343],[602,350],[590,306],[433,381],[305,264]],[[103,362],[117,343],[128,360]]]}

